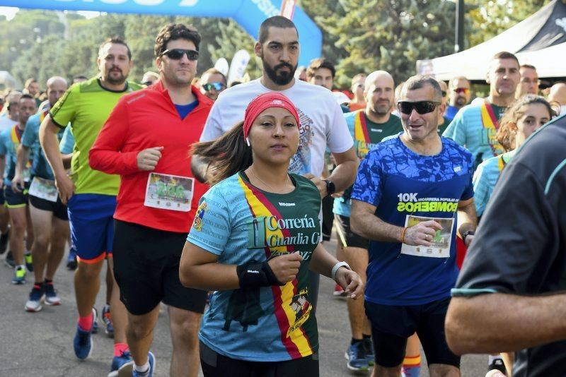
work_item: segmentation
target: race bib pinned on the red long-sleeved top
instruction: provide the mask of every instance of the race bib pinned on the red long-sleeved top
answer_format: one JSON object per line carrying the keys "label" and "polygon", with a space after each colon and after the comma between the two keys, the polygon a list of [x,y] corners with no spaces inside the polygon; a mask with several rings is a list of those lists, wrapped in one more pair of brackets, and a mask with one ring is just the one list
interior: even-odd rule
{"label": "race bib pinned on the red long-sleeved top", "polygon": [[149,173],[144,205],[162,210],[189,212],[194,186],[195,179],[188,176]]}

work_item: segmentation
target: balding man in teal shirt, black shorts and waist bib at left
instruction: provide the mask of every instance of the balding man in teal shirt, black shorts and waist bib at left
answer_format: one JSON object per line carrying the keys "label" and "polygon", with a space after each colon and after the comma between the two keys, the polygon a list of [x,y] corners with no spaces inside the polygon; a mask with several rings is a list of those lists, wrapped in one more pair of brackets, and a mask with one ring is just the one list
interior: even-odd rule
{"label": "balding man in teal shirt, black shorts and waist bib at left", "polygon": [[[61,303],[55,293],[53,279],[63,257],[65,242],[69,238],[69,217],[67,206],[61,203],[57,195],[53,173],[40,148],[39,129],[49,109],[64,95],[67,87],[67,80],[62,77],[54,76],[47,80],[49,107],[30,116],[18,146],[16,172],[12,179],[13,189],[17,191],[24,187],[25,176],[28,174],[33,176],[28,201],[34,233],[31,252],[35,283],[25,304],[26,311],[40,311],[42,297],[45,297],[47,305]],[[59,140],[63,131],[59,131]],[[28,169],[30,160],[31,169]]]}

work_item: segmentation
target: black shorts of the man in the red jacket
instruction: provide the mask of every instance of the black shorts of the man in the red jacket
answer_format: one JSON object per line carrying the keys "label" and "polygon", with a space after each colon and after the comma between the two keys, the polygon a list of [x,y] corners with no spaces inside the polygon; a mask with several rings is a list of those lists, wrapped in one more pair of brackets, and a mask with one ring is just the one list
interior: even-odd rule
{"label": "black shorts of the man in the red jacket", "polygon": [[175,308],[204,312],[207,292],[185,288],[179,280],[186,239],[186,233],[115,220],[114,276],[120,299],[130,313],[149,313],[160,301]]}

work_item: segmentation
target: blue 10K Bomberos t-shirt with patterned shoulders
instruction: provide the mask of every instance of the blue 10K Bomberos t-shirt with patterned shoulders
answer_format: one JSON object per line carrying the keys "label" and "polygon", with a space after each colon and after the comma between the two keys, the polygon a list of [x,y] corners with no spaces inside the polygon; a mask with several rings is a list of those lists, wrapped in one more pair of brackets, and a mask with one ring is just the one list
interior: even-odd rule
{"label": "blue 10K Bomberos t-shirt with patterned shoulders", "polygon": [[383,305],[421,305],[450,297],[456,267],[458,202],[473,197],[470,152],[441,138],[438,155],[418,155],[400,136],[385,140],[360,164],[352,199],[376,206],[398,227],[435,220],[431,247],[371,241],[365,298]]}

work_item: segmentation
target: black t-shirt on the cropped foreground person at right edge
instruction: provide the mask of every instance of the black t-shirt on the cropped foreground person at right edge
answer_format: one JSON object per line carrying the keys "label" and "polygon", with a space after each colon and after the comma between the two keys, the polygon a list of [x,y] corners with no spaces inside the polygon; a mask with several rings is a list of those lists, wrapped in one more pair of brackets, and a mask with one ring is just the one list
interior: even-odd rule
{"label": "black t-shirt on the cropped foreground person at right edge", "polygon": [[[453,296],[566,291],[565,145],[562,116],[527,140],[505,167]],[[513,376],[566,376],[565,354],[566,341],[524,349]]]}

